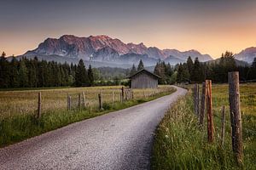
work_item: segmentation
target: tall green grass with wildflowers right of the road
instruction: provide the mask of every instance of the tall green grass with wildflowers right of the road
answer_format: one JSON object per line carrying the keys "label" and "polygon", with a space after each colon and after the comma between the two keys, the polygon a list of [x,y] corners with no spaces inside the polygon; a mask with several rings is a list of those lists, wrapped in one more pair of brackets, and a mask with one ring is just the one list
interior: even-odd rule
{"label": "tall green grass with wildflowers right of the road", "polygon": [[[189,87],[191,88],[191,87]],[[198,127],[191,92],[170,109],[156,131],[153,169],[256,169],[256,83],[241,84],[241,116],[244,161],[234,161],[230,138],[228,85],[212,85],[215,127],[213,144],[207,144],[207,122]],[[221,107],[226,108],[224,147],[220,144]]]}

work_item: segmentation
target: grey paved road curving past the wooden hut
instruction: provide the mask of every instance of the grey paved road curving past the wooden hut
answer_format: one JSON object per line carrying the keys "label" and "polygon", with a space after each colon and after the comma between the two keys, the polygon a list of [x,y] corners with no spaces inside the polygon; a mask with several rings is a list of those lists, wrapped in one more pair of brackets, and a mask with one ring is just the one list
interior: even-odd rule
{"label": "grey paved road curving past the wooden hut", "polygon": [[177,88],[0,149],[0,169],[148,169],[154,130],[170,104],[186,93]]}

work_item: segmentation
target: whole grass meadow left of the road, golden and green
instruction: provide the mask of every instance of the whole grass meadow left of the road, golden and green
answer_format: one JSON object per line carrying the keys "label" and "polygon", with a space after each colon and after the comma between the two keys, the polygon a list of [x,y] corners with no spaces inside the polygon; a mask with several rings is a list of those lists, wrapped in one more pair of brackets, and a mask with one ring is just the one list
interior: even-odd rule
{"label": "whole grass meadow left of the road, golden and green", "polygon": [[[42,93],[42,116],[38,108],[38,92]],[[103,111],[99,111],[98,94],[102,91]],[[22,91],[0,91],[0,147],[48,132],[72,122],[99,116],[137,105],[160,96],[171,94],[175,89],[160,86],[158,89],[134,89],[134,99],[120,102],[120,86],[91,88],[54,88]],[[85,94],[86,107],[78,108],[79,94]],[[114,103],[112,105],[112,94]],[[67,94],[72,96],[72,111],[67,111]],[[146,97],[145,97],[146,96]],[[83,103],[82,103],[83,104]]]}

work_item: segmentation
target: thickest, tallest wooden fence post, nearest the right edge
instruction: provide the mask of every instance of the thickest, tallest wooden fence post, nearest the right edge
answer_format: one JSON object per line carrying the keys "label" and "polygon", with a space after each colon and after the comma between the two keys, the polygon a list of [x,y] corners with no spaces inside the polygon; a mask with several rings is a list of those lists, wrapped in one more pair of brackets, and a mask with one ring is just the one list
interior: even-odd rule
{"label": "thickest, tallest wooden fence post, nearest the right edge", "polygon": [[242,134],[241,134],[241,110],[239,94],[239,72],[229,72],[229,101],[230,122],[232,135],[232,149],[236,155],[236,161],[242,162]]}

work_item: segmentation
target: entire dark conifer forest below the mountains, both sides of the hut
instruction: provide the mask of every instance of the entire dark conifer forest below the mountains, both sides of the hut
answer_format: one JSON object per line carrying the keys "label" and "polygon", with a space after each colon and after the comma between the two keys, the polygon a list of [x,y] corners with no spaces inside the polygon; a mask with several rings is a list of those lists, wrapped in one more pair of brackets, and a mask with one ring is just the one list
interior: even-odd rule
{"label": "entire dark conifer forest below the mountains, both sides of the hut", "polygon": [[[15,59],[11,61],[0,57],[0,88],[44,88],[44,87],[83,87],[97,85],[129,85],[125,79],[144,68],[140,60],[138,66],[131,69],[121,68],[85,68],[84,61],[79,60],[78,65],[60,64],[55,61],[34,59]],[[203,82],[211,79],[215,83],[227,82],[229,71],[239,71],[243,82],[256,80],[256,59],[253,64],[236,65],[236,59],[231,52],[225,52],[220,59],[200,62],[198,58],[193,61],[191,57],[186,63],[170,65],[159,61],[154,66],[154,74],[159,75],[160,84],[174,84],[181,82]]]}

